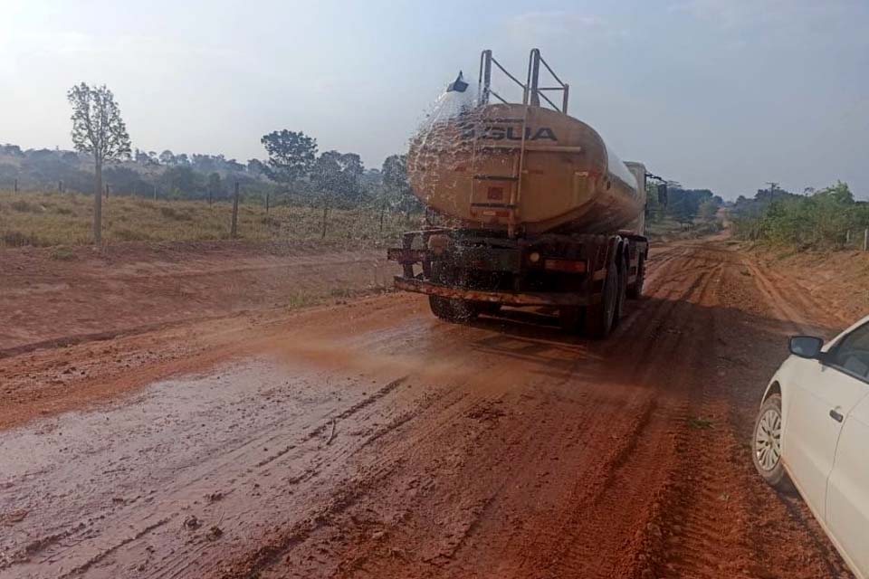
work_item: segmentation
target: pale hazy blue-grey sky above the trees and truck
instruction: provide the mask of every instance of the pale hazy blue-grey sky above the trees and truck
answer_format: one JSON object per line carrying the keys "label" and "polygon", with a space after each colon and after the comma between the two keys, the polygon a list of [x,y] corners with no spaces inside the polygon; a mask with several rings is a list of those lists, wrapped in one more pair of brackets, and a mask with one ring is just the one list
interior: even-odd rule
{"label": "pale hazy blue-grey sky above the trees and truck", "polygon": [[85,81],[133,147],[245,162],[289,128],[379,167],[482,49],[524,76],[539,47],[570,114],[657,175],[869,198],[867,30],[865,0],[0,0],[0,143],[72,148]]}

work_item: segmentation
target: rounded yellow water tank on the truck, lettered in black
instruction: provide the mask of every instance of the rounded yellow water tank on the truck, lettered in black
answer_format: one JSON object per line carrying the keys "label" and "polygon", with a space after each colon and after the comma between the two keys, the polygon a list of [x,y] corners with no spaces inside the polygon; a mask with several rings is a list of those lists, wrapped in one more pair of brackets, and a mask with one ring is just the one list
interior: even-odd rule
{"label": "rounded yellow water tank on the truck, lettered in black", "polygon": [[622,162],[586,123],[520,104],[447,109],[407,158],[428,207],[466,228],[642,233],[645,166]]}

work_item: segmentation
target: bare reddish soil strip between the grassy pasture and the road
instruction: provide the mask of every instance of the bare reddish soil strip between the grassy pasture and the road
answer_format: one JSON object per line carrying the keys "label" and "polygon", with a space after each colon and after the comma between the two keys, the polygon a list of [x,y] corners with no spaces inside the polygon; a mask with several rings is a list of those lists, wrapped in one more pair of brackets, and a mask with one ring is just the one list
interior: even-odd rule
{"label": "bare reddish soil strip between the grassy pasture and the road", "polygon": [[0,356],[382,286],[384,258],[250,242],[3,250]]}

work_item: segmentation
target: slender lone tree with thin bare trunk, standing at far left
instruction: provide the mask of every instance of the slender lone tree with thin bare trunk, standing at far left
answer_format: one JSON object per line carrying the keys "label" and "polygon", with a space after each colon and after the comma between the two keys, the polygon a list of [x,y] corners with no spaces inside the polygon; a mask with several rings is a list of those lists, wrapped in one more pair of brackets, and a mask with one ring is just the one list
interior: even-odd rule
{"label": "slender lone tree with thin bare trunk, standing at far left", "polygon": [[102,241],[102,166],[129,157],[127,126],[106,85],[75,85],[66,94],[72,105],[72,145],[93,156],[93,241]]}

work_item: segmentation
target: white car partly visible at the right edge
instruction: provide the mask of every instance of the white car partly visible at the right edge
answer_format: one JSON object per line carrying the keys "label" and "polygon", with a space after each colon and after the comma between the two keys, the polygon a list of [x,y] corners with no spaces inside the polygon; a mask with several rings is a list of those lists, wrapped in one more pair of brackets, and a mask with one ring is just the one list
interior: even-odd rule
{"label": "white car partly visible at the right edge", "polygon": [[752,441],[770,485],[785,473],[857,577],[869,579],[869,317],[824,344],[790,338]]}

